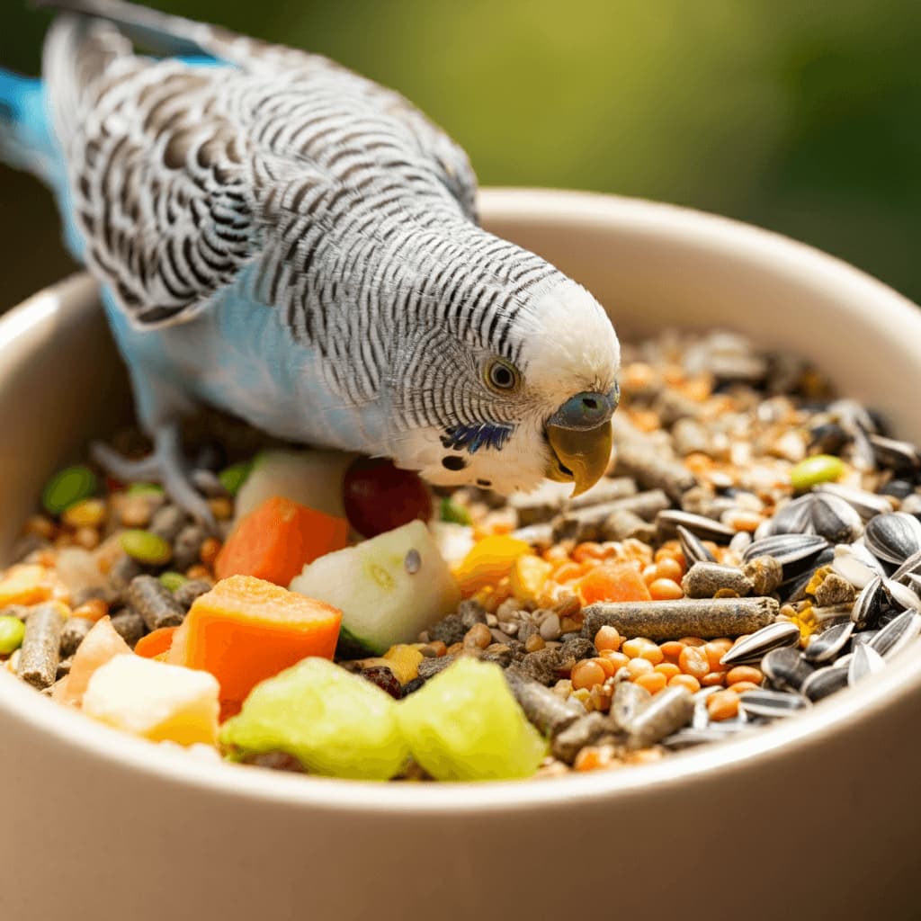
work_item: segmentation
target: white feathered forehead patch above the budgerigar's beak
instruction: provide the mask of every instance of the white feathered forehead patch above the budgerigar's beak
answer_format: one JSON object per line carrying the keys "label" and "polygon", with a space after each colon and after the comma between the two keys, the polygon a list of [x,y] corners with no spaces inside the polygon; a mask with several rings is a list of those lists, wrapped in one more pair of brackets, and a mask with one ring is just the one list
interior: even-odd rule
{"label": "white feathered forehead patch above the budgerigar's beak", "polygon": [[617,333],[599,302],[566,280],[528,305],[521,318],[522,364],[531,388],[609,391],[620,367]]}

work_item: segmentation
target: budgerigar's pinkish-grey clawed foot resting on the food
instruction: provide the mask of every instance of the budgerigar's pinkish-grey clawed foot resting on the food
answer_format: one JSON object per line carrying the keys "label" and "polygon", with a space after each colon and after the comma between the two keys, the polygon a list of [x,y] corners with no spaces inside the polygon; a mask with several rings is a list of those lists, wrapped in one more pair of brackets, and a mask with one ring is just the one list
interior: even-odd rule
{"label": "budgerigar's pinkish-grey clawed foot resting on the food", "polygon": [[90,454],[105,472],[122,483],[146,481],[162,484],[176,505],[208,530],[216,529],[215,517],[207,500],[192,484],[193,474],[182,455],[176,426],[158,428],[154,434],[153,452],[138,461],[129,461],[100,442],[90,447]]}

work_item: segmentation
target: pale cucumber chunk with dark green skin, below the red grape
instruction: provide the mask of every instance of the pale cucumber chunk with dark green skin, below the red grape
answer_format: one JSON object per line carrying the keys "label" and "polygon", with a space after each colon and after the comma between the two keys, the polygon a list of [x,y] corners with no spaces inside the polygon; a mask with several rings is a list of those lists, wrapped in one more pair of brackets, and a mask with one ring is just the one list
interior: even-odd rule
{"label": "pale cucumber chunk with dark green skin, below the red grape", "polygon": [[361,650],[382,653],[413,642],[420,630],[452,611],[460,593],[421,521],[322,556],[291,590],[343,612],[343,634]]}

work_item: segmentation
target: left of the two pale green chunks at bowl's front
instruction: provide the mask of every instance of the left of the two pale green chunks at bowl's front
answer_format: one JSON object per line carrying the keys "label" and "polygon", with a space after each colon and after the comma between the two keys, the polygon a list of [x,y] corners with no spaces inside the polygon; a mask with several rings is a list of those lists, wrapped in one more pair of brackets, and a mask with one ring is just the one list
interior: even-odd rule
{"label": "left of the two pale green chunks at bowl's front", "polygon": [[304,659],[255,688],[220,740],[237,758],[287,752],[312,774],[389,780],[409,756],[396,710],[364,678]]}

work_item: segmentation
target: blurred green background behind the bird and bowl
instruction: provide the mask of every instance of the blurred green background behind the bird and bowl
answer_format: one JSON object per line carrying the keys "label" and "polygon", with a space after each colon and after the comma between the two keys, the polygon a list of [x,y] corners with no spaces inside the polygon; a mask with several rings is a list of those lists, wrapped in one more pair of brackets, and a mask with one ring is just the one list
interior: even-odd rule
{"label": "blurred green background behind the bird and bowl", "polygon": [[[414,100],[484,185],[618,192],[806,240],[921,301],[918,0],[156,0],[327,54]],[[0,64],[48,21],[2,0]],[[69,270],[50,196],[0,168],[0,307]]]}

